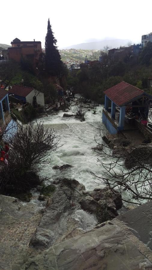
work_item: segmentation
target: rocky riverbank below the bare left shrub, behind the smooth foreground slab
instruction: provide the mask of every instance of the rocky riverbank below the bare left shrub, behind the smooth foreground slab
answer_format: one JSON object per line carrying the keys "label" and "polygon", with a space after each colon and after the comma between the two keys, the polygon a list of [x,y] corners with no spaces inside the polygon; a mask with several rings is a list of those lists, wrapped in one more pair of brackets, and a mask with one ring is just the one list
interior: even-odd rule
{"label": "rocky riverbank below the bare left shrub, behind the smooth foreground slab", "polygon": [[[54,191],[43,201],[38,192],[28,203],[0,195],[1,269],[20,269],[30,255],[93,229],[98,218],[116,217],[122,206],[119,193],[117,197],[107,188],[85,191],[75,179],[56,178],[51,187]],[[81,212],[90,220],[96,218],[92,226],[90,220],[83,223],[83,215],[78,218]]]}

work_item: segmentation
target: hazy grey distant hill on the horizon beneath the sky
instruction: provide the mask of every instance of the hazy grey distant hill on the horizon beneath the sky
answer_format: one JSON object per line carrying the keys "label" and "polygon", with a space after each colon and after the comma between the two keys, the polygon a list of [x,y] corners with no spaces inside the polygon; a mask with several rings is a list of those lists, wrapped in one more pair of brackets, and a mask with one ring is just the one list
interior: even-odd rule
{"label": "hazy grey distant hill on the horizon beneath the sky", "polygon": [[120,46],[125,46],[129,42],[129,39],[112,39],[112,40],[101,40],[95,42],[87,42],[81,44],[75,44],[62,49],[84,49],[84,50],[100,50],[104,46],[109,46],[111,48],[118,48]]}

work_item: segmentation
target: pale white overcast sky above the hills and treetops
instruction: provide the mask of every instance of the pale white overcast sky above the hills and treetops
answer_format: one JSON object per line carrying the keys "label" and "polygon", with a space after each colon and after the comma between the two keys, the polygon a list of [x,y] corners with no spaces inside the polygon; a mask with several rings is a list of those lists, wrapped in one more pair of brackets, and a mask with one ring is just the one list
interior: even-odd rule
{"label": "pale white overcast sky above the hills and treetops", "polygon": [[44,47],[47,20],[59,49],[105,38],[141,42],[152,32],[151,0],[7,0],[1,6],[0,43],[41,41]]}

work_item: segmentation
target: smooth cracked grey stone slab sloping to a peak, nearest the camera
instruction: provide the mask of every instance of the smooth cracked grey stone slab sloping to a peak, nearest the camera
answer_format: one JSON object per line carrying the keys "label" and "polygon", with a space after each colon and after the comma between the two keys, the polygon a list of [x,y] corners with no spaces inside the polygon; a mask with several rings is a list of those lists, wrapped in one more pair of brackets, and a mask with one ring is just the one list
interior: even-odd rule
{"label": "smooth cracked grey stone slab sloping to a peak, nearest the camera", "polygon": [[145,270],[150,260],[117,226],[105,224],[32,256],[20,270]]}

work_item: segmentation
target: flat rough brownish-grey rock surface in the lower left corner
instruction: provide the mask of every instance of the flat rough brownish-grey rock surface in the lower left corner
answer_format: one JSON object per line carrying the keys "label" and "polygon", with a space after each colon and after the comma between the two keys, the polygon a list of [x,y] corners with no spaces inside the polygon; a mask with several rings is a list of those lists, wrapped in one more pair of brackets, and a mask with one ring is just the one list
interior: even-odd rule
{"label": "flat rough brownish-grey rock surface in the lower left corner", "polygon": [[42,218],[41,208],[0,195],[0,269],[12,269],[26,256],[29,243]]}

